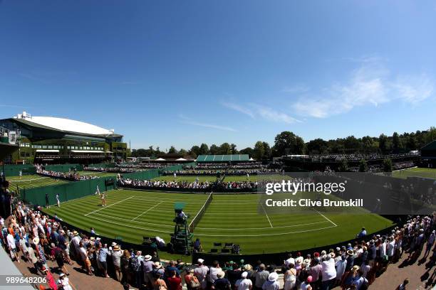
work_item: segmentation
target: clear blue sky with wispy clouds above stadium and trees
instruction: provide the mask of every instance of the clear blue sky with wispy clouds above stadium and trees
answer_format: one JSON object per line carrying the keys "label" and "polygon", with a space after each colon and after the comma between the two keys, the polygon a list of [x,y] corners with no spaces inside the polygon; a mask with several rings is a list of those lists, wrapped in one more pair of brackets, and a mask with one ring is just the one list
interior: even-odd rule
{"label": "clear blue sky with wispy clouds above stadium and trees", "polygon": [[0,118],[160,149],[435,125],[434,1],[300,2],[2,0]]}

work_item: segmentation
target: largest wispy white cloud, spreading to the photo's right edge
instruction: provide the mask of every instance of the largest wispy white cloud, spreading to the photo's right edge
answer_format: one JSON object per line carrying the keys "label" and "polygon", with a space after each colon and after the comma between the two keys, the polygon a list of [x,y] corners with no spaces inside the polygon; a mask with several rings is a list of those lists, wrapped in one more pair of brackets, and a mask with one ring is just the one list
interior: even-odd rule
{"label": "largest wispy white cloud, spreading to the photo's right edge", "polygon": [[425,75],[398,77],[391,80],[390,71],[375,60],[363,63],[351,73],[345,84],[335,84],[317,95],[306,95],[292,107],[297,114],[317,118],[343,114],[355,107],[402,100],[417,104],[434,91],[433,82]]}

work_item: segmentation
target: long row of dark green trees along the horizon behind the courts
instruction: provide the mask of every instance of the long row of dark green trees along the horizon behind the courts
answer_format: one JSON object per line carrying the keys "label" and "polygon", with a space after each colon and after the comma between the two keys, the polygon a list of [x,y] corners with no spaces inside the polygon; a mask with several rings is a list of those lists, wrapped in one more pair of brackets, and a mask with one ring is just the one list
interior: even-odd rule
{"label": "long row of dark green trees along the horizon behind the courts", "polygon": [[202,143],[199,146],[192,146],[189,150],[177,150],[175,146],[171,146],[167,152],[160,151],[159,147],[153,149],[153,146],[150,146],[148,149],[133,149],[131,156],[153,157],[168,153],[197,158],[204,154],[249,154],[256,160],[264,160],[286,154],[400,154],[419,150],[433,140],[436,140],[436,127],[412,133],[394,132],[392,136],[385,134],[362,138],[348,136],[328,141],[318,138],[308,142],[291,131],[283,131],[277,134],[273,146],[266,141],[257,141],[253,147],[238,150],[236,144],[227,142],[219,146],[217,144],[208,146]]}

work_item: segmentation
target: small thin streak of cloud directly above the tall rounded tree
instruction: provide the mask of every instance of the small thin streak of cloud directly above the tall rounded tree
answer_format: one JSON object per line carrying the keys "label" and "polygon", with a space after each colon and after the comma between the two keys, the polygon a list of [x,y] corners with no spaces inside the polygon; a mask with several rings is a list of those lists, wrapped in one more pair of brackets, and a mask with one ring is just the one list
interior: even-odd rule
{"label": "small thin streak of cloud directly above the tall rounded tree", "polygon": [[233,109],[234,111],[237,111],[239,113],[246,114],[252,119],[259,118],[259,119],[264,119],[266,121],[281,122],[286,124],[301,122],[298,119],[289,116],[289,114],[280,112],[271,107],[263,106],[261,104],[250,103],[250,104],[241,105],[233,102],[221,102],[221,104],[222,106],[227,107],[228,109]]}

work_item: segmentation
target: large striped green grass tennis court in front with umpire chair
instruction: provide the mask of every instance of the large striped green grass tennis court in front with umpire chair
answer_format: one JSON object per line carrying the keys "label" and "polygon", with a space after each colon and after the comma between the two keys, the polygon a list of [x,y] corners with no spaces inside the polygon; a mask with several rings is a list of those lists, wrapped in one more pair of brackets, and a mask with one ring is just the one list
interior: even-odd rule
{"label": "large striped green grass tennis court in front with umpire chair", "polygon": [[[350,240],[365,226],[368,232],[392,225],[390,220],[368,213],[259,213],[257,194],[215,194],[212,203],[194,230],[205,251],[213,242],[234,242],[242,254],[284,252],[315,246],[331,245]],[[142,236],[160,236],[170,241],[174,230],[174,204],[185,202],[185,213],[197,214],[208,195],[162,193],[142,190],[110,190],[107,207],[100,206],[95,195],[71,200],[61,208],[51,207],[62,220],[83,229],[94,227],[107,237],[123,237],[128,242],[141,243]],[[190,220],[188,220],[190,222]]]}

